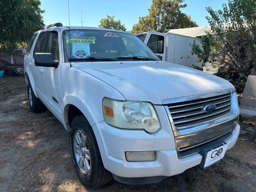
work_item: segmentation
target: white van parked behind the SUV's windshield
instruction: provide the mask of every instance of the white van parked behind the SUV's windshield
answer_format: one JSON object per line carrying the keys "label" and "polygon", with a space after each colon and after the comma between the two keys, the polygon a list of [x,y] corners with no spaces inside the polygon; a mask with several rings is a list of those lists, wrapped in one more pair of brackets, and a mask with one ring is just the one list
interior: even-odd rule
{"label": "white van parked behind the SUV's windshield", "polygon": [[175,63],[192,68],[202,68],[202,62],[191,54],[190,44],[198,38],[174,33],[143,32],[136,34],[162,61]]}

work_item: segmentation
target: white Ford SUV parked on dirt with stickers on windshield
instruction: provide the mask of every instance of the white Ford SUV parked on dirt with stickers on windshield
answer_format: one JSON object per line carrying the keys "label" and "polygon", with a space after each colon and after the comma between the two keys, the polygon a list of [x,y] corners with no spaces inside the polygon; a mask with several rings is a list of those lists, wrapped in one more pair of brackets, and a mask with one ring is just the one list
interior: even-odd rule
{"label": "white Ford SUV parked on dirt with stickers on windshield", "polygon": [[88,186],[207,168],[238,138],[232,84],[160,61],[128,32],[52,24],[34,33],[24,66],[31,111],[48,108],[70,132],[72,161]]}

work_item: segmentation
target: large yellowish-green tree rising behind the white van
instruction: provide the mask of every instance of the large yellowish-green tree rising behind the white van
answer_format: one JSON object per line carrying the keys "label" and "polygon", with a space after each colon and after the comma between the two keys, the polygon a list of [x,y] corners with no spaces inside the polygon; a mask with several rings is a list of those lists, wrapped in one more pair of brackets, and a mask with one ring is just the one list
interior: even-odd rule
{"label": "large yellowish-green tree rising behind the white van", "polygon": [[152,0],[148,15],[139,17],[137,24],[132,27],[132,33],[145,31],[164,32],[170,29],[197,27],[189,15],[181,12],[187,4],[184,0]]}

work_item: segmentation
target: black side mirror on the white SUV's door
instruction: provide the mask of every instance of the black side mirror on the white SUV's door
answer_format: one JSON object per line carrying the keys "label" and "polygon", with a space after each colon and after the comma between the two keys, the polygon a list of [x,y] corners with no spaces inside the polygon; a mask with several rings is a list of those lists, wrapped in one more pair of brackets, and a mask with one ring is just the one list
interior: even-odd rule
{"label": "black side mirror on the white SUV's door", "polygon": [[35,53],[35,66],[57,68],[59,61],[53,60],[51,53]]}

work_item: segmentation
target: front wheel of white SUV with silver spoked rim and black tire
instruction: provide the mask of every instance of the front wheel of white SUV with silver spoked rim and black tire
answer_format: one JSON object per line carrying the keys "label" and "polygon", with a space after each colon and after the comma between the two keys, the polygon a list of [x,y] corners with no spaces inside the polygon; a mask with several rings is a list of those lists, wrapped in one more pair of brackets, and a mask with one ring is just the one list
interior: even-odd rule
{"label": "front wheel of white SUV with silver spoked rim and black tire", "polygon": [[[79,140],[81,139],[80,144],[76,136],[79,136]],[[76,116],[72,121],[69,141],[72,161],[82,184],[96,188],[112,180],[112,174],[103,166],[92,127],[83,115]],[[83,156],[82,153],[85,155]],[[90,156],[90,160],[88,160],[88,156]],[[80,166],[78,165],[79,160],[82,162]],[[89,168],[86,166],[88,164]]]}

